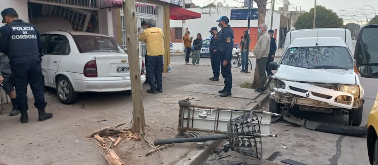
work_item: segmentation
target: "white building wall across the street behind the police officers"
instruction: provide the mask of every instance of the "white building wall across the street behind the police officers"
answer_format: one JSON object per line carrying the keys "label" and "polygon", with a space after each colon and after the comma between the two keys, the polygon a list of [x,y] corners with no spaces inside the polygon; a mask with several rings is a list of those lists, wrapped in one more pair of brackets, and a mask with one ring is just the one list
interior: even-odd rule
{"label": "white building wall across the street behind the police officers", "polygon": [[[227,16],[230,18],[231,10],[232,9],[243,9],[238,7],[219,7],[211,8],[211,11],[209,8],[188,8],[187,10],[191,10],[197,13],[201,13],[201,18],[198,19],[191,19],[191,20],[185,20],[185,25],[182,25],[182,21],[180,20],[170,20],[170,27],[183,27],[188,28],[191,36],[196,36],[197,33],[202,34],[202,38],[209,38],[210,37],[210,29],[211,27],[218,27],[218,23],[216,20],[220,18],[220,16]],[[217,13],[218,12],[218,13]],[[271,14],[272,10],[267,10],[265,22],[268,25],[268,29],[270,29],[271,24]],[[277,29],[277,43],[278,36],[279,36],[279,25],[280,25],[280,14],[277,12],[274,12],[273,17],[273,29]],[[248,20],[230,20],[230,26],[231,27],[248,27]],[[250,27],[258,27],[257,20],[251,20],[250,21]],[[220,30],[220,28],[218,27]],[[173,43],[173,50],[180,50],[183,49],[183,43]]]}

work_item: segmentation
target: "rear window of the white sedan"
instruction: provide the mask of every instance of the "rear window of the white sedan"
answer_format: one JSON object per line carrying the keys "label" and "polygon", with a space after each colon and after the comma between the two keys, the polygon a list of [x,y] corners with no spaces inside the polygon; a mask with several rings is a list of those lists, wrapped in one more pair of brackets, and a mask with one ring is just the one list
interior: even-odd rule
{"label": "rear window of the white sedan", "polygon": [[80,53],[84,52],[116,52],[125,53],[121,45],[114,38],[93,36],[93,35],[73,35],[73,39]]}

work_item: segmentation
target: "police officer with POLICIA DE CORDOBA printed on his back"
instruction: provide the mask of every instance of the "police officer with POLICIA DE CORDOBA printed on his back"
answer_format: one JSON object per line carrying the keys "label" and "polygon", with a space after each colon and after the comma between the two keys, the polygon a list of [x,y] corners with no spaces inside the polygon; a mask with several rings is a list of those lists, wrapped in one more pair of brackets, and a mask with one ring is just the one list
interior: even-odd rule
{"label": "police officer with POLICIA DE CORDOBA printed on his back", "polygon": [[21,123],[28,122],[28,84],[34,96],[34,106],[38,108],[39,121],[52,118],[52,113],[46,113],[45,96],[43,93],[43,76],[41,69],[42,42],[39,31],[34,25],[18,19],[13,8],[1,12],[0,52],[8,55],[12,71],[12,82],[16,87],[17,109],[21,112]]}

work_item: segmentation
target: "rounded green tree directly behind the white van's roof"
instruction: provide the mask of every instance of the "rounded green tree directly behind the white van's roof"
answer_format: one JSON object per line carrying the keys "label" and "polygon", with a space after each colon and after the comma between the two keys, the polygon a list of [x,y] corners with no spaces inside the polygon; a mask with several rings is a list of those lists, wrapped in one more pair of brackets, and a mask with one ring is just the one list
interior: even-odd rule
{"label": "rounded green tree directly behind the white van's roof", "polygon": [[[313,28],[314,8],[309,13],[304,13],[298,17],[294,23],[295,29]],[[343,19],[323,6],[316,6],[316,28],[343,28]]]}

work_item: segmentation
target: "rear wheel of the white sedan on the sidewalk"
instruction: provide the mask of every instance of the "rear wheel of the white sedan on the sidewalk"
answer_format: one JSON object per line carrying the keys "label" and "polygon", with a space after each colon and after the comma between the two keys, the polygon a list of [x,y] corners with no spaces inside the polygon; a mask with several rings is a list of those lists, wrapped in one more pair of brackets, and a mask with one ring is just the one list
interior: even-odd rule
{"label": "rear wheel of the white sedan on the sidewalk", "polygon": [[59,77],[56,83],[56,91],[59,100],[63,104],[72,104],[77,101],[79,94],[73,90],[69,78],[66,76]]}

